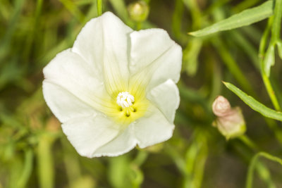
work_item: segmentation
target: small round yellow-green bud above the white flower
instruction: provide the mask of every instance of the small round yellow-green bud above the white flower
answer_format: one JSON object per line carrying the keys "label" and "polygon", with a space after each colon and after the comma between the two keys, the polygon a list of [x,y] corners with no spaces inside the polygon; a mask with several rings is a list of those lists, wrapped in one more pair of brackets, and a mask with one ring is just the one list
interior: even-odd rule
{"label": "small round yellow-green bud above the white flower", "polygon": [[137,1],[128,6],[130,18],[135,22],[143,22],[149,15],[149,6],[145,1]]}

